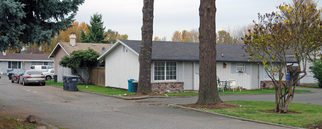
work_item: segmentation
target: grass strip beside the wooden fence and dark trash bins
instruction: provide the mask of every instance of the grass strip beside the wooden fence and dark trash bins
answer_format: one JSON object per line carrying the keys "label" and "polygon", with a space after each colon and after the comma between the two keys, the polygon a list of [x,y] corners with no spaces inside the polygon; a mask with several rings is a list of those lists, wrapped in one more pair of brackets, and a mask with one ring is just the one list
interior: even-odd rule
{"label": "grass strip beside the wooden fence and dark trash bins", "polygon": [[[54,82],[54,80],[46,81],[46,84],[49,85],[56,85],[56,86],[64,86],[62,82]],[[86,88],[87,86],[87,88]],[[104,86],[97,86],[97,85],[77,85],[79,90],[86,90],[91,92],[97,92],[102,94],[109,94],[109,95],[124,95],[124,94],[135,94],[134,92],[128,92],[128,90],[123,89],[115,89],[115,88],[106,88]]]}

